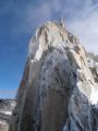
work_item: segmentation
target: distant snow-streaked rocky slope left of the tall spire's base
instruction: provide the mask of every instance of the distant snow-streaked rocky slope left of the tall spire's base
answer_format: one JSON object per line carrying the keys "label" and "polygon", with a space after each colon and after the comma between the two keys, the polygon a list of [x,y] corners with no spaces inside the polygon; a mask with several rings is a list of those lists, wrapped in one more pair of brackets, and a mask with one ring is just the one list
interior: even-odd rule
{"label": "distant snow-streaked rocky slope left of the tall spire's base", "polygon": [[9,120],[14,106],[15,102],[12,99],[0,99],[0,131],[9,130]]}

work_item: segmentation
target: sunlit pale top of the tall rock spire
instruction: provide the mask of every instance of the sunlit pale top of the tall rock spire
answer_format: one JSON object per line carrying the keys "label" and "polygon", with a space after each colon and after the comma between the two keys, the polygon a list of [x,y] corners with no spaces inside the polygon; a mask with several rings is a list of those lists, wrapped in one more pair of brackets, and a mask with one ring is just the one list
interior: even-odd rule
{"label": "sunlit pale top of the tall rock spire", "polygon": [[29,43],[28,53],[29,57],[39,59],[42,52],[49,48],[56,48],[61,44],[64,47],[74,48],[77,43],[77,38],[61,26],[59,22],[47,22],[37,28]]}

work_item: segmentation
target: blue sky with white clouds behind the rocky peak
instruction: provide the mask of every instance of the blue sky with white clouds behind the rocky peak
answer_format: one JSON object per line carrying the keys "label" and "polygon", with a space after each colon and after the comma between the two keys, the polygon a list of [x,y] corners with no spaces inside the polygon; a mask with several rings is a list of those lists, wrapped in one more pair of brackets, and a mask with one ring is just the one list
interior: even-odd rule
{"label": "blue sky with white clouds behind the rocky peak", "polygon": [[98,53],[98,0],[0,0],[0,97],[15,96],[36,27],[60,16]]}

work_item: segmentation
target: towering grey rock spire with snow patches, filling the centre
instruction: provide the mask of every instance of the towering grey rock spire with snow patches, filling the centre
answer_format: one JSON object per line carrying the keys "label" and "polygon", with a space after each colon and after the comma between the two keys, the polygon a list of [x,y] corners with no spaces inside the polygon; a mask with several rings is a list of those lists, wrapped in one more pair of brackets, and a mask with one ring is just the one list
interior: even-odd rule
{"label": "towering grey rock spire with snow patches, filling the centre", "polygon": [[78,39],[47,22],[29,43],[9,131],[97,131],[96,86]]}

